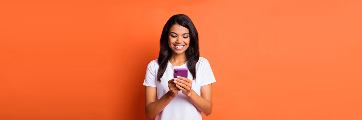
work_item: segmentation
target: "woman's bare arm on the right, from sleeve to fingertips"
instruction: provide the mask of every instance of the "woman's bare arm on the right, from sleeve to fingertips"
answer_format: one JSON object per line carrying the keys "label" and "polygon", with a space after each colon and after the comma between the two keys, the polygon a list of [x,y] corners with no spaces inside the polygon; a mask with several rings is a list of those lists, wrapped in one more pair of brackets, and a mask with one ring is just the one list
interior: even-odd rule
{"label": "woman's bare arm on the right, from sleeve to fingertips", "polygon": [[176,81],[178,89],[182,90],[190,101],[206,116],[212,112],[212,84],[201,86],[201,96],[199,96],[192,87],[192,81],[185,77],[179,77]]}

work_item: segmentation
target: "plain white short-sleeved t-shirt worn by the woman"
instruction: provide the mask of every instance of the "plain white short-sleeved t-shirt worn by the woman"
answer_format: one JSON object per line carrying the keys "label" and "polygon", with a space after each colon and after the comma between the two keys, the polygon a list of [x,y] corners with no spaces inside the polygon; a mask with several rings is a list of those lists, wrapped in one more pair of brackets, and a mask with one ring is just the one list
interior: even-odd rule
{"label": "plain white short-sleeved t-shirt worn by the woman", "polygon": [[[170,89],[168,81],[173,79],[173,69],[187,68],[187,61],[184,65],[173,66],[168,61],[167,68],[161,77],[161,83],[157,81],[157,71],[159,69],[158,59],[151,61],[147,66],[146,77],[143,85],[157,88],[157,99],[160,99]],[[216,82],[212,73],[210,63],[207,59],[200,57],[196,63],[196,81],[192,79],[191,72],[188,70],[188,79],[192,80],[192,88],[199,96],[201,86]],[[199,111],[186,95],[180,90],[177,97],[156,115],[156,120],[202,120],[201,111]]]}

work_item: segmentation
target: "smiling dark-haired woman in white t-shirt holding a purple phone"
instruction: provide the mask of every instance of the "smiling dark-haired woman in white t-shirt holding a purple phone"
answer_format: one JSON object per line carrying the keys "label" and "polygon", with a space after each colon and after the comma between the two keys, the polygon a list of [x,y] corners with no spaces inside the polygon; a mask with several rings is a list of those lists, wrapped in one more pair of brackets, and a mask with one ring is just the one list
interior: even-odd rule
{"label": "smiling dark-haired woman in white t-shirt holding a purple phone", "polygon": [[[198,33],[191,19],[173,15],[161,34],[159,58],[148,64],[143,82],[149,119],[202,120],[201,112],[211,114],[216,80],[209,61],[199,56]],[[188,78],[173,78],[175,68],[187,68]]]}

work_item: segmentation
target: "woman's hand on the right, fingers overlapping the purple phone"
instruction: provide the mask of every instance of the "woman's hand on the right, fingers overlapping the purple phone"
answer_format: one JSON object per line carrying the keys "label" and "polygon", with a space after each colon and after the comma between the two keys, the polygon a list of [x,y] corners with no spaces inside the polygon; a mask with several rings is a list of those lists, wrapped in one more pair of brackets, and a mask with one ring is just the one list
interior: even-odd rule
{"label": "woman's hand on the right, fingers overlapping the purple phone", "polygon": [[182,90],[182,94],[186,96],[191,95],[192,80],[186,77],[177,76],[177,78],[173,78],[173,83],[176,84],[178,89]]}

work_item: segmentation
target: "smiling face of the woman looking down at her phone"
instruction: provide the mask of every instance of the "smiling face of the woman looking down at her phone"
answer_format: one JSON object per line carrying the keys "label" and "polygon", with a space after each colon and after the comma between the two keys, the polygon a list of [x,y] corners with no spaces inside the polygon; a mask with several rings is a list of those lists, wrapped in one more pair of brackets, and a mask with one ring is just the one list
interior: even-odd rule
{"label": "smiling face of the woman looking down at her phone", "polygon": [[189,48],[190,34],[189,29],[175,24],[168,31],[168,46],[176,54],[181,54]]}

